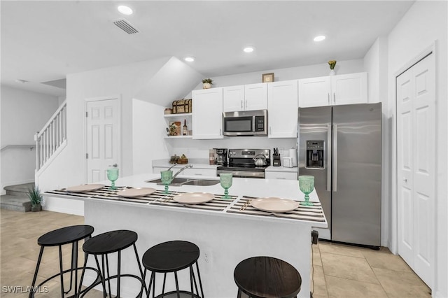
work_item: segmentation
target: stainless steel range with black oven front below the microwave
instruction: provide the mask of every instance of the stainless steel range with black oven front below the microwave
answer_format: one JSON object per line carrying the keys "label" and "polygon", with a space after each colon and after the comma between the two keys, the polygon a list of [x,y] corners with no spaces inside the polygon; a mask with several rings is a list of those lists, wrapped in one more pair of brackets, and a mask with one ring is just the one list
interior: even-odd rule
{"label": "stainless steel range with black oven front below the microwave", "polygon": [[265,178],[265,169],[271,165],[269,149],[229,149],[228,166],[218,166],[216,175],[232,172],[234,177]]}

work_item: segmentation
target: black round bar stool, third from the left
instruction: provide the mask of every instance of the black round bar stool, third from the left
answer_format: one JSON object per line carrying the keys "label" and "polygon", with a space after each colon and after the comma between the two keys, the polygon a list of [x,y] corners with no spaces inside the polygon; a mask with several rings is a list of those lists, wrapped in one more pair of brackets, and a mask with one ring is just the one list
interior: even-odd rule
{"label": "black round bar stool, third from the left", "polygon": [[[152,248],[146,250],[143,256],[143,266],[145,267],[144,278],[146,276],[146,270],[151,271],[151,278],[148,286],[148,298],[153,288],[153,298],[155,296],[155,274],[163,273],[163,288],[162,294],[157,297],[165,297],[166,295],[172,295],[176,293],[177,298],[180,298],[181,294],[188,294],[191,297],[204,298],[204,291],[202,290],[201,276],[199,272],[199,266],[197,259],[199,258],[200,251],[196,244],[188,241],[168,241],[160,243]],[[201,289],[201,295],[197,290],[197,283],[195,272],[193,271],[193,264],[196,263],[197,277],[199,279],[199,285]],[[177,271],[182,269],[190,269],[190,286],[191,291],[179,290],[179,281],[177,279]],[[174,280],[176,281],[176,290],[165,293],[165,282],[167,280],[167,273],[174,273]],[[195,284],[196,294],[193,292],[193,283]]]}

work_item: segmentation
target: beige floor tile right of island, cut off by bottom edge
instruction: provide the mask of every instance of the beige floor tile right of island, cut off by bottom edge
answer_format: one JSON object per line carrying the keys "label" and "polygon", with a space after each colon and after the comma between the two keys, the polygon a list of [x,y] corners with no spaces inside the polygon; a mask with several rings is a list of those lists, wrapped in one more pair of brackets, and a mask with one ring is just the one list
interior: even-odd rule
{"label": "beige floor tile right of island, cut off by bottom edge", "polygon": [[387,298],[386,292],[374,283],[325,276],[330,298]]}

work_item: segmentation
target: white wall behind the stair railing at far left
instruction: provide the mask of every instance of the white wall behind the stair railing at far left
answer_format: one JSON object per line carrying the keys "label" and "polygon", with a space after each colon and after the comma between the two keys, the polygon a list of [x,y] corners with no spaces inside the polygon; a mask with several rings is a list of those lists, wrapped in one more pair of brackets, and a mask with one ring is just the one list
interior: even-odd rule
{"label": "white wall behind the stair railing at far left", "polygon": [[[1,86],[1,146],[35,145],[34,134],[43,128],[58,108],[58,99],[13,87]],[[34,182],[36,150],[1,150],[1,194],[3,187]]]}

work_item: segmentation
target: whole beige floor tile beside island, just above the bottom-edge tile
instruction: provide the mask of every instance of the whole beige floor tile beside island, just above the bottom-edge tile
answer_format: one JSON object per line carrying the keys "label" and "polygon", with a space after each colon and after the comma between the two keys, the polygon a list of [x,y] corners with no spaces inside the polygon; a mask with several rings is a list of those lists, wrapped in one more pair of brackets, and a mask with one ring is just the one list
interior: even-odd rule
{"label": "whole beige floor tile beside island, just above the bottom-edge tile", "polygon": [[379,284],[379,281],[364,257],[349,257],[323,252],[321,253],[321,257],[325,276],[336,276],[354,281]]}

